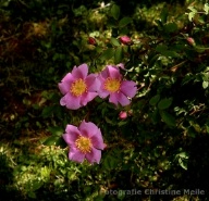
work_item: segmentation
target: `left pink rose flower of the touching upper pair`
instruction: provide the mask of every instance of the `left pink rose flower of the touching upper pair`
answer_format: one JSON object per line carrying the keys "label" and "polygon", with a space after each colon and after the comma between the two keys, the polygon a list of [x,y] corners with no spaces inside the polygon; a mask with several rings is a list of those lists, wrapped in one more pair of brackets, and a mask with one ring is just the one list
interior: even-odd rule
{"label": "left pink rose flower of the touching upper pair", "polygon": [[60,100],[61,105],[77,110],[81,106],[85,106],[98,95],[96,92],[99,87],[97,76],[87,74],[87,64],[82,64],[78,67],[74,66],[72,73],[67,73],[59,83],[59,89],[64,96]]}

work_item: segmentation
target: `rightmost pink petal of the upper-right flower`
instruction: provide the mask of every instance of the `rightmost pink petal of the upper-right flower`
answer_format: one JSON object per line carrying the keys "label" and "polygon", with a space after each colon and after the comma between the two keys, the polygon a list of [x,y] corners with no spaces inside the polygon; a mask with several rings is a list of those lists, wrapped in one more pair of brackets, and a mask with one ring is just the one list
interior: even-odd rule
{"label": "rightmost pink petal of the upper-right flower", "polygon": [[133,98],[136,95],[137,87],[136,83],[130,80],[123,80],[121,84],[121,92],[126,97]]}

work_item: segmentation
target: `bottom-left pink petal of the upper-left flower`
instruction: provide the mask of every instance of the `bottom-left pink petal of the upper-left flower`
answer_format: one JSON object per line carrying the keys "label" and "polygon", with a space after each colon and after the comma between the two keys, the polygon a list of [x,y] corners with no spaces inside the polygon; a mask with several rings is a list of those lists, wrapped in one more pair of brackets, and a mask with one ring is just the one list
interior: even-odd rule
{"label": "bottom-left pink petal of the upper-left flower", "polygon": [[79,109],[81,105],[81,97],[75,97],[67,92],[61,100],[60,100],[61,105],[66,105],[67,109],[71,110],[77,110]]}

